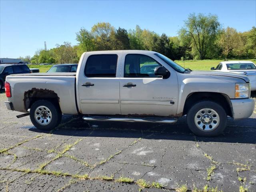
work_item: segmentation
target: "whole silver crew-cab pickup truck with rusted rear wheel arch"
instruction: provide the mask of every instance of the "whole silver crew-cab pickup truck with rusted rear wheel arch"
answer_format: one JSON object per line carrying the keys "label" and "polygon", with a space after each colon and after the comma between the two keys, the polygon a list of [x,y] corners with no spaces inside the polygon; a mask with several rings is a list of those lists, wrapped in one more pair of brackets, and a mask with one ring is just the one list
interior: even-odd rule
{"label": "whole silver crew-cab pickup truck with rusted rear wheel arch", "polygon": [[254,110],[246,76],[192,71],[142,50],[85,52],[76,73],[10,75],[5,89],[6,107],[26,112],[23,116],[30,115],[42,130],[58,126],[62,114],[86,121],[159,123],[186,115],[194,134],[216,136],[227,116],[248,118]]}

